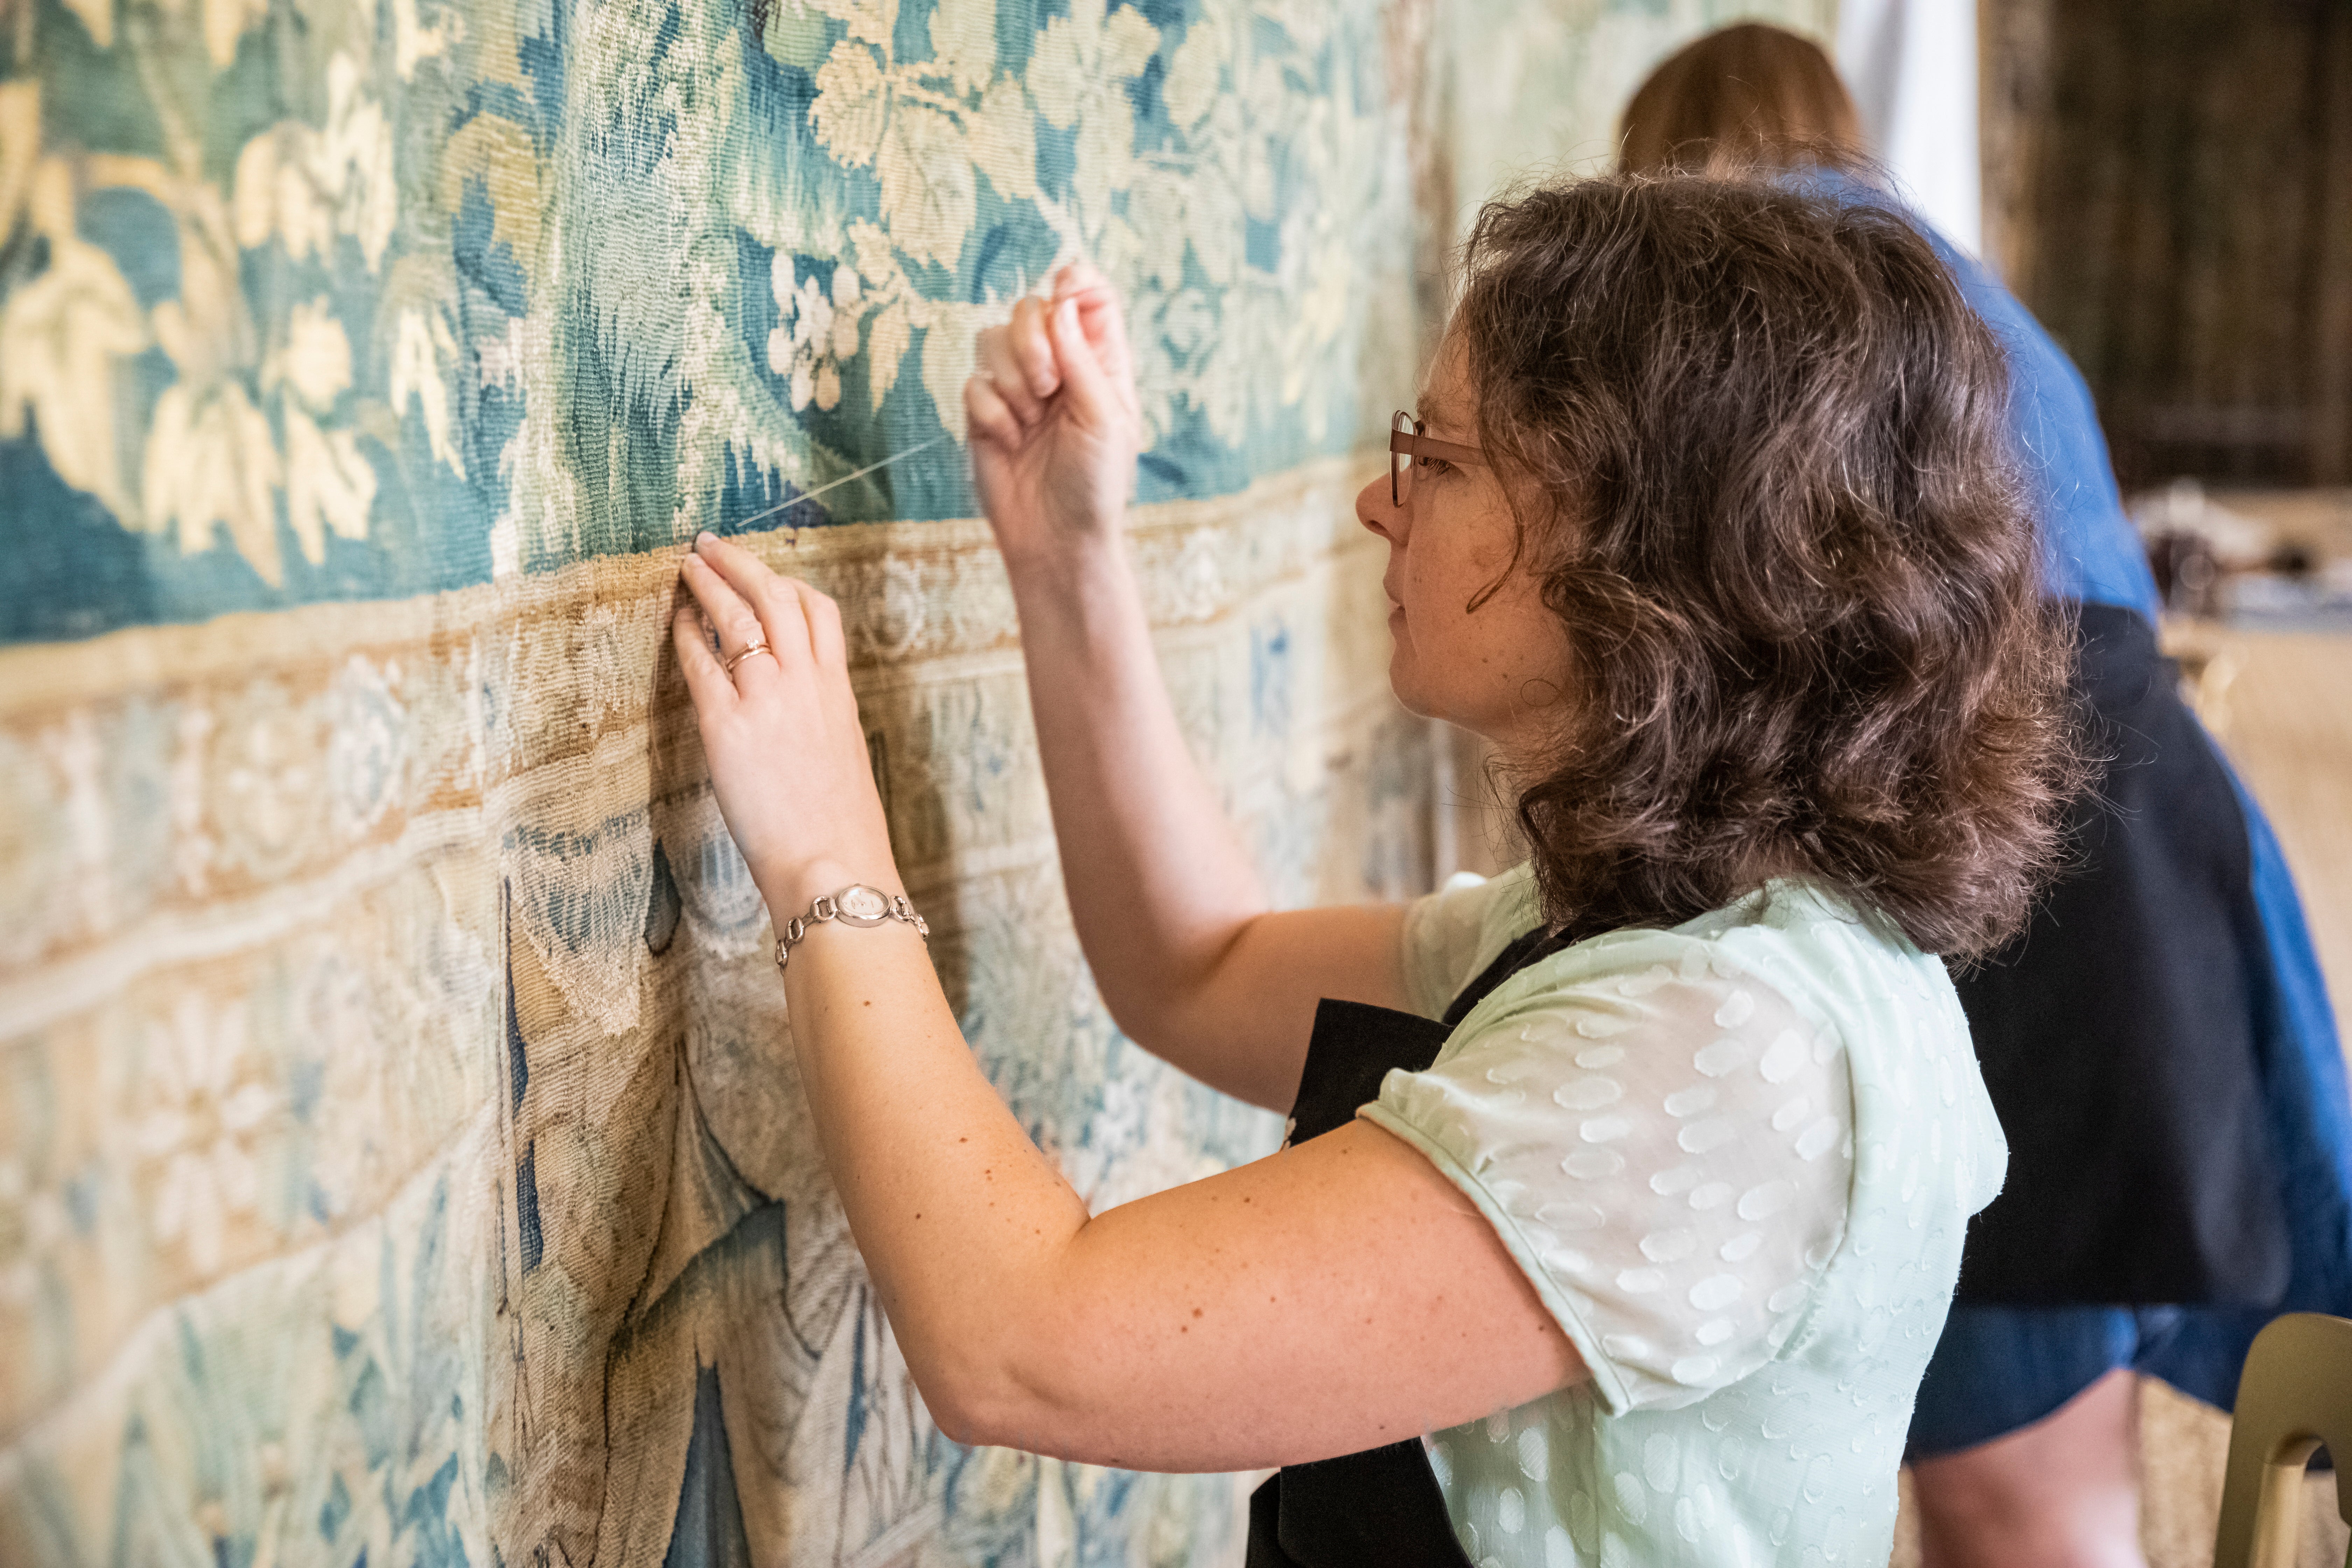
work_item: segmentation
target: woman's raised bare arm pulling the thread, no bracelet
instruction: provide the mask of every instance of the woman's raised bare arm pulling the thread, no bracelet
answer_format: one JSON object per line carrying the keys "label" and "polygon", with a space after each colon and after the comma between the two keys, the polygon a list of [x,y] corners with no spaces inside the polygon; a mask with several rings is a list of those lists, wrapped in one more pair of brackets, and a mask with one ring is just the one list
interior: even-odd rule
{"label": "woman's raised bare arm pulling the thread, no bracelet", "polygon": [[1406,1006],[1402,910],[1272,914],[1185,750],[1120,524],[1138,414],[1117,301],[1070,268],[981,336],[974,477],[1021,609],[1070,914],[1120,1027],[1289,1107],[1319,997]]}

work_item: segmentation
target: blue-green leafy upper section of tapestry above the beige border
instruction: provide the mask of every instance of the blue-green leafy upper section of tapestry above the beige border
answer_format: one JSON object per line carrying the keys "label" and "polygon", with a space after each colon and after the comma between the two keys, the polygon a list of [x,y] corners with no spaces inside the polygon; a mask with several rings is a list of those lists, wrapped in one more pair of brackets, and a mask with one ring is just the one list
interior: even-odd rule
{"label": "blue-green leafy upper section of tapestry above the beige border", "polygon": [[0,496],[45,581],[0,632],[969,515],[957,461],[783,503],[960,425],[974,331],[1073,256],[1131,287],[1145,501],[1338,451],[1411,341],[1376,24],[9,0]]}

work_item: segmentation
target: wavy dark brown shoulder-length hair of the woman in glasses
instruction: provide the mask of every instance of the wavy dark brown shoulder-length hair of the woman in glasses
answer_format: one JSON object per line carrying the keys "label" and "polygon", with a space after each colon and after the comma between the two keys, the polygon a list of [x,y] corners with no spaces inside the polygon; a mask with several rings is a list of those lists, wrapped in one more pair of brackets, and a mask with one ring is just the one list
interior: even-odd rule
{"label": "wavy dark brown shoulder-length hair of the woman in glasses", "polygon": [[2018,931],[2084,780],[2072,642],[1929,244],[1764,181],[1541,186],[1479,212],[1449,334],[1576,661],[1517,795],[1545,917],[1813,875],[1929,952]]}

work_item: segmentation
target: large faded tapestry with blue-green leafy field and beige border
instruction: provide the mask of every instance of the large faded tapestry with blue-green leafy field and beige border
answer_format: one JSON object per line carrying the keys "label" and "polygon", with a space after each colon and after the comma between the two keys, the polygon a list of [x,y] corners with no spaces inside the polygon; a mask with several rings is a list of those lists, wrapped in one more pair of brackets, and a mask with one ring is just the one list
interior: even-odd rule
{"label": "large faded tapestry with blue-green leafy field and beige border", "polygon": [[[1465,7],[1472,63],[1616,40],[1611,106],[1715,9]],[[1195,755],[1279,903],[1430,886],[1352,494],[1491,179],[1470,31],[0,0],[0,1563],[1237,1561],[1247,1479],[931,1427],[666,625],[696,529],[840,597],[948,994],[1091,1206],[1268,1152],[1077,954],[960,383],[1115,277]]]}

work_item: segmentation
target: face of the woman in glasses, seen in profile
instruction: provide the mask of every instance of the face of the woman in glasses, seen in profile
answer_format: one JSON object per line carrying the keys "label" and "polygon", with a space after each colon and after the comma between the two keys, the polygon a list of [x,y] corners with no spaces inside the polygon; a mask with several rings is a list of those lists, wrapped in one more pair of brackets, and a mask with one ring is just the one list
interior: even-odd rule
{"label": "face of the woman in glasses, seen in profile", "polygon": [[[1454,339],[1430,367],[1418,416],[1437,440],[1477,444],[1477,404]],[[1416,465],[1402,508],[1390,505],[1383,473],[1357,491],[1355,517],[1388,541],[1381,585],[1395,637],[1388,684],[1397,701],[1486,736],[1505,757],[1541,755],[1569,691],[1569,639],[1526,559],[1512,567],[1517,524],[1496,473]],[[1472,611],[1470,602],[1489,588]]]}

